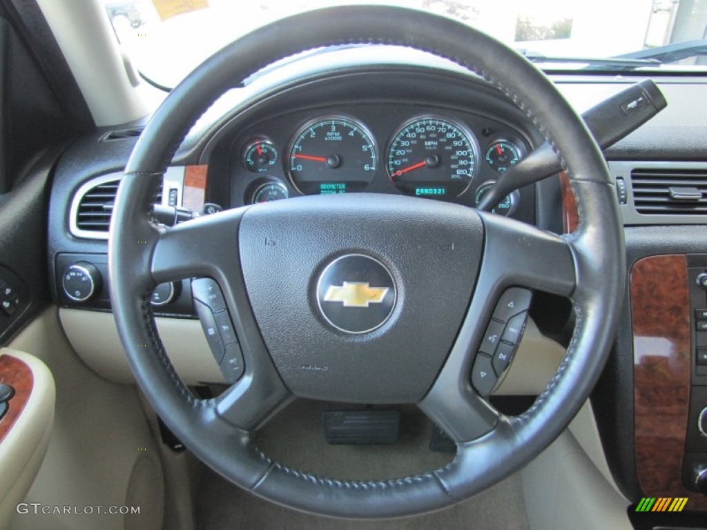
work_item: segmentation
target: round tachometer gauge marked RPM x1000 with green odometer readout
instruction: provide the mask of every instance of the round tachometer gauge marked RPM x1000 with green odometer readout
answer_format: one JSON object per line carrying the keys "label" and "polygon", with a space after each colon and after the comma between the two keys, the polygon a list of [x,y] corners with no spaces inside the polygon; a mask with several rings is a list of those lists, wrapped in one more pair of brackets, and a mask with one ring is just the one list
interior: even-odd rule
{"label": "round tachometer gauge marked RPM x1000 with green odometer readout", "polygon": [[292,185],[305,195],[360,192],[378,167],[373,136],[361,122],[344,116],[304,124],[288,153]]}

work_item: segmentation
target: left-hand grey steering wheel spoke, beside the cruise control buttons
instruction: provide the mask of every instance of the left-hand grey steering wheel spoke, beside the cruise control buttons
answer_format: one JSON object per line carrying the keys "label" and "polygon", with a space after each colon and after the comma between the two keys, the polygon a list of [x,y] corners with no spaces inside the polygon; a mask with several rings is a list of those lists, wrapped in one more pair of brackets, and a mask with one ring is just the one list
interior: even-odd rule
{"label": "left-hand grey steering wheel spoke, beside the cruise control buttons", "polygon": [[[227,380],[236,380],[216,399],[216,413],[242,430],[255,430],[284,406],[291,394],[272,365],[243,294],[238,252],[238,225],[243,211],[224,211],[165,230],[153,245],[151,273],[156,283],[182,278],[216,280],[204,284],[198,294],[194,291],[195,298],[199,298],[195,303],[214,318],[214,327],[218,328],[221,322],[218,317],[226,315],[225,325],[230,324],[235,331],[232,340],[221,341],[226,345],[221,367]],[[208,288],[220,291],[214,295],[216,302],[209,299],[205,291]],[[237,365],[237,370],[229,370],[229,360]]]}

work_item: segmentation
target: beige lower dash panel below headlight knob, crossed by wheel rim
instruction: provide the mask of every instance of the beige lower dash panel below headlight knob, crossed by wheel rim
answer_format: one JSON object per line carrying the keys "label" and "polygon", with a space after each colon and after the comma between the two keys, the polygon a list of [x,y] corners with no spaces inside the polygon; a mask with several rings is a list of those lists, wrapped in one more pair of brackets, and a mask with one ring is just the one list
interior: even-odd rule
{"label": "beige lower dash panel below headlight knob, crossed by wheel rim", "polygon": [[[84,363],[109,381],[134,384],[111,313],[62,307],[59,316],[71,346]],[[155,320],[170,360],[186,384],[224,382],[198,320]]]}

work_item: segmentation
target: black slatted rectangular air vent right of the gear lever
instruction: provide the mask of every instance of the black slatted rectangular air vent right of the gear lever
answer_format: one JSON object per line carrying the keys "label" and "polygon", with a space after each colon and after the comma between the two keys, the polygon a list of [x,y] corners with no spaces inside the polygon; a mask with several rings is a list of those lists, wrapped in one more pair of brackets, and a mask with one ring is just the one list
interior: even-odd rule
{"label": "black slatted rectangular air vent right of the gear lever", "polygon": [[631,185],[633,203],[642,215],[707,214],[707,170],[636,168]]}

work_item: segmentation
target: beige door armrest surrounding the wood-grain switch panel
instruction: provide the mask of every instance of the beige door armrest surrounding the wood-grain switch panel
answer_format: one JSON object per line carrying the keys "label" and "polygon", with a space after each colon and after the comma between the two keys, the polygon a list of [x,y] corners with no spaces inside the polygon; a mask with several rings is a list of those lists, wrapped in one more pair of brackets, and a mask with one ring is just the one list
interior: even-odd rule
{"label": "beige door armrest surrounding the wood-grain switch panel", "polygon": [[42,361],[27,353],[0,348],[0,356],[22,360],[33,376],[30,397],[11,430],[0,442],[0,529],[16,514],[47,452],[54,421],[54,379]]}

